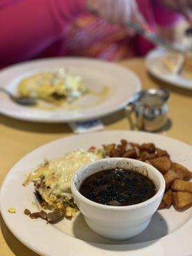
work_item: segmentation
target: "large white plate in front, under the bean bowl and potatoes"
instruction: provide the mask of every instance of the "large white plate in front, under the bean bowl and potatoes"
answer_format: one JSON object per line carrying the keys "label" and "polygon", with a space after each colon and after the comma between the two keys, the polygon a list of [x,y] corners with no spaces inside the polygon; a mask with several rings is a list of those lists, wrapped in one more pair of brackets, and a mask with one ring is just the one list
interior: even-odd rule
{"label": "large white plate in front, under the bean bowl and potatoes", "polygon": [[[33,184],[24,188],[24,175],[34,170],[44,161],[76,148],[87,149],[92,145],[118,143],[125,138],[143,143],[152,141],[158,147],[166,148],[173,161],[188,168],[192,166],[192,148],[180,141],[147,132],[106,131],[94,134],[70,136],[52,141],[37,148],[13,166],[1,188],[1,214],[12,233],[26,246],[41,255],[79,255],[79,256],[188,256],[192,252],[192,208],[176,211],[173,207],[154,214],[150,225],[140,235],[115,243],[93,233],[86,225],[81,214],[73,221],[63,220],[56,225],[47,225],[43,220],[31,220],[24,215],[24,209],[36,211]],[[15,207],[16,214],[8,208]]]}

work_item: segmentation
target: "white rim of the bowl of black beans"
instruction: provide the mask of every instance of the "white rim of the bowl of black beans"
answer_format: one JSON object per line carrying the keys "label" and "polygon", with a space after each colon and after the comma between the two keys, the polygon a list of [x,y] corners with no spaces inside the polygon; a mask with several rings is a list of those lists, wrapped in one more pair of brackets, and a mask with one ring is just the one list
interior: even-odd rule
{"label": "white rim of the bowl of black beans", "polygon": [[[124,205],[124,206],[114,206],[114,205],[104,205],[104,204],[99,204],[97,202],[93,202],[92,200],[86,198],[85,196],[81,195],[81,193],[79,192],[79,190],[76,187],[75,184],[75,179],[77,176],[77,173],[81,172],[82,169],[84,168],[88,168],[88,166],[93,165],[95,163],[99,163],[99,162],[105,162],[105,161],[130,161],[132,163],[142,163],[143,166],[147,167],[150,169],[153,169],[154,172],[157,173],[157,175],[159,175],[159,180],[160,180],[160,186],[159,186],[159,190],[157,191],[156,195],[152,196],[151,198],[149,198],[148,200],[146,200],[145,202],[141,202],[139,204],[134,204],[134,205]],[[99,172],[97,170],[97,172]],[[83,180],[82,180],[83,181]],[[109,209],[113,209],[115,211],[125,211],[125,210],[133,210],[133,209],[139,209],[141,207],[146,207],[149,204],[152,204],[154,201],[156,201],[159,196],[161,196],[164,193],[164,189],[165,189],[165,181],[164,181],[164,177],[161,174],[161,172],[159,172],[154,166],[147,164],[145,162],[142,162],[140,160],[137,159],[131,159],[131,158],[124,158],[124,157],[111,157],[111,158],[104,158],[104,159],[99,159],[97,161],[94,161],[92,163],[86,164],[83,167],[79,168],[79,170],[77,170],[76,173],[74,173],[74,175],[72,176],[72,182],[71,182],[71,191],[72,191],[72,195],[74,196],[74,194],[76,195],[77,198],[79,198],[80,200],[83,200],[84,203],[92,205],[93,207],[99,207],[100,209],[105,209],[105,210],[109,210]]]}

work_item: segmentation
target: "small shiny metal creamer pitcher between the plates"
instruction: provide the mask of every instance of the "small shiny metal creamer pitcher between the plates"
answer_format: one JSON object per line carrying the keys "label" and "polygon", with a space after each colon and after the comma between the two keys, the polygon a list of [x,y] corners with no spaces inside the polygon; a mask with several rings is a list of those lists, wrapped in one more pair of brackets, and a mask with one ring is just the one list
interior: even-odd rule
{"label": "small shiny metal creamer pitcher between the plates", "polygon": [[150,89],[136,93],[132,101],[125,107],[131,129],[136,128],[148,132],[158,131],[168,121],[167,102],[170,99],[168,90]]}

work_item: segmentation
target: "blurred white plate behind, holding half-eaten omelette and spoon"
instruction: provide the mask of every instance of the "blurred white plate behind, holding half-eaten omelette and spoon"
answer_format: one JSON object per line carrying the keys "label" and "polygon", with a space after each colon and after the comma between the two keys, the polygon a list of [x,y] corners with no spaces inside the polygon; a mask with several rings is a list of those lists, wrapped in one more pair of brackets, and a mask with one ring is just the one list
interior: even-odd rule
{"label": "blurred white plate behind, holding half-eaten omelette and spoon", "polygon": [[45,110],[20,106],[12,102],[3,92],[0,92],[0,113],[34,122],[88,120],[124,108],[132,95],[141,88],[140,79],[131,70],[114,63],[86,58],[51,58],[13,65],[0,72],[0,86],[4,86],[10,92],[15,93],[17,92],[17,84],[24,77],[60,67],[66,67],[70,72],[81,75],[84,82],[95,93],[102,92],[104,86],[107,86],[106,97],[85,95],[68,109]]}

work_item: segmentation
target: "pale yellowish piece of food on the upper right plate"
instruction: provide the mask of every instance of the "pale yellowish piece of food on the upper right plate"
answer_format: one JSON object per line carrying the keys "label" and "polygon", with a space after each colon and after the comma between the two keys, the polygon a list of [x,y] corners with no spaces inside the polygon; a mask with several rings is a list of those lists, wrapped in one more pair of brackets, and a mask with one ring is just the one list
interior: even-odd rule
{"label": "pale yellowish piece of food on the upper right plate", "polygon": [[161,58],[164,70],[170,74],[177,74],[184,65],[184,56],[177,53],[168,53]]}

